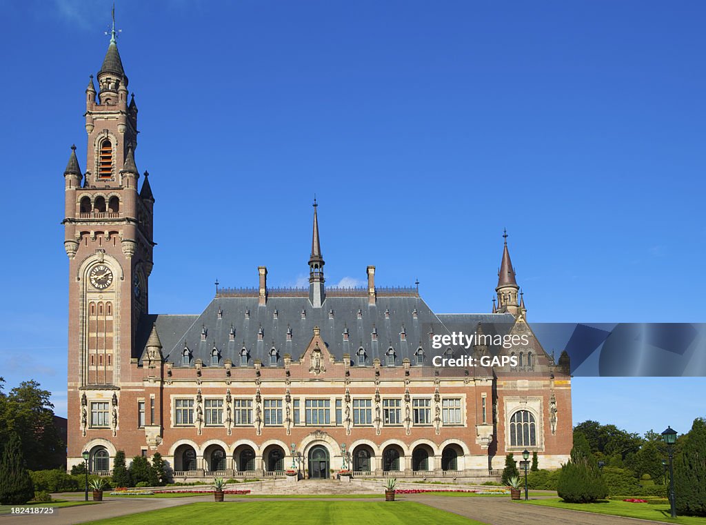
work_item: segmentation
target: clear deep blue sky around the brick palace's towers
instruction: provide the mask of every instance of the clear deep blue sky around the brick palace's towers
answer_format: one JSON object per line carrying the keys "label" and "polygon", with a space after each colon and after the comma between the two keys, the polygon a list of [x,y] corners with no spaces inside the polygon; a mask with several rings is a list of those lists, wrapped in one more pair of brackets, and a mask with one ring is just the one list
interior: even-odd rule
{"label": "clear deep blue sky around the brick palace's towers", "polygon": [[[0,0],[0,375],[39,379],[58,413],[62,172],[71,143],[85,167],[110,6]],[[508,228],[530,321],[703,321],[705,16],[700,1],[118,2],[157,199],[150,309],[200,312],[215,278],[255,285],[260,264],[301,282],[316,193],[329,283],[375,264],[381,284],[419,278],[438,312],[485,312]],[[577,378],[574,419],[686,430],[699,389]]]}

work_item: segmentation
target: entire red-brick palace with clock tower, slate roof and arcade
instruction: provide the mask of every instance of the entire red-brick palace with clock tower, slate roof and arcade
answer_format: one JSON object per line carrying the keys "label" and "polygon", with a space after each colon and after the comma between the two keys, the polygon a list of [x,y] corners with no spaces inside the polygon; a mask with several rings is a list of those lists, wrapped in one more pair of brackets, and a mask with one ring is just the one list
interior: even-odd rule
{"label": "entire red-brick palace with clock tower, slate roof and arcade", "polygon": [[[152,314],[155,197],[136,168],[138,109],[113,37],[86,88],[86,171],[64,172],[69,259],[68,468],[159,452],[174,478],[301,476],[492,479],[505,454],[556,468],[572,443],[568,357],[527,324],[507,239],[489,314],[436,314],[418,286],[328,288],[316,203],[308,288],[216,290],[201,314]],[[254,269],[253,269],[254,270]],[[253,271],[253,284],[255,283]],[[435,366],[510,355],[433,336],[525,334],[514,367]]]}

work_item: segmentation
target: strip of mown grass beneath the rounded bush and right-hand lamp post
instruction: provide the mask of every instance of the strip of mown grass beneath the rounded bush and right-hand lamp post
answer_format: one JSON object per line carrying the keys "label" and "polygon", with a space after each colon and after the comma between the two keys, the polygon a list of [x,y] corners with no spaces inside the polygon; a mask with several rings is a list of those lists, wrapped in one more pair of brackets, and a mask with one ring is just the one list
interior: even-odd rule
{"label": "strip of mown grass beneath the rounded bush and right-hand lamp post", "polygon": [[628,518],[652,519],[655,521],[666,521],[667,523],[677,523],[683,525],[706,525],[706,518],[677,517],[671,519],[669,516],[669,505],[649,505],[647,503],[628,503],[624,501],[606,500],[596,503],[565,503],[562,500],[530,500],[520,501],[525,505],[542,505],[543,507],[554,507],[557,509],[582,510],[584,512],[595,512],[596,514],[611,514],[613,516],[625,516]]}

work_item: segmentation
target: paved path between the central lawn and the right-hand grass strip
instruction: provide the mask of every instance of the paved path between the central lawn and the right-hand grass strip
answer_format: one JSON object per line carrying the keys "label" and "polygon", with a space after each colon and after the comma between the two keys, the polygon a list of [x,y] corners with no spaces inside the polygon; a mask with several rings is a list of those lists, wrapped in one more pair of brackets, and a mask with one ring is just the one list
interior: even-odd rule
{"label": "paved path between the central lawn and the right-hand grass strip", "polygon": [[460,514],[489,525],[510,525],[515,523],[522,525],[646,525],[663,523],[662,521],[650,521],[647,519],[623,518],[591,512],[576,512],[553,507],[525,505],[512,502],[504,497],[406,495],[405,500],[448,510],[448,512]]}

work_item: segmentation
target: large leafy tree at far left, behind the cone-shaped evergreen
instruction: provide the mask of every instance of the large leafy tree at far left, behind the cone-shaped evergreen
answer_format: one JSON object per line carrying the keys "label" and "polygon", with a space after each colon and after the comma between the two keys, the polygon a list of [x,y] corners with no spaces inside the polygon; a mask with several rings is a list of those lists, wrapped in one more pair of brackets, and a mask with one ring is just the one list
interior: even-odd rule
{"label": "large leafy tree at far left, behind the cone-shaped evergreen", "polygon": [[30,470],[65,468],[66,444],[54,425],[51,393],[34,380],[21,382],[9,394],[1,386],[0,382],[0,447],[12,429],[20,437]]}

